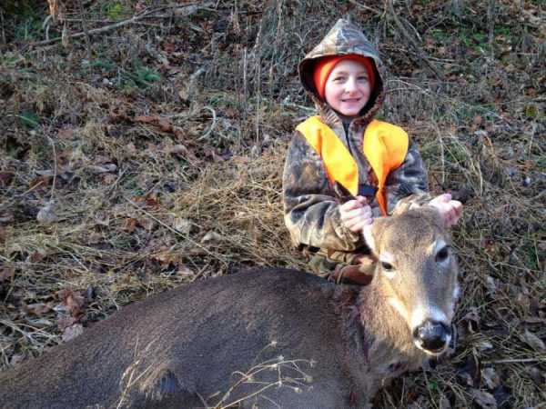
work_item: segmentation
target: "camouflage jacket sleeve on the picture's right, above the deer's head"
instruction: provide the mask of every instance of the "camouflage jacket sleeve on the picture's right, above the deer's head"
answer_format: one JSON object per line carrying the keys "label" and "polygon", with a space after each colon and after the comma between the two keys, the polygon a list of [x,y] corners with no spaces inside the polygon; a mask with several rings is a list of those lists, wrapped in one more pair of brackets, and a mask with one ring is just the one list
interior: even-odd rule
{"label": "camouflage jacket sleeve on the picture's right, above the deer's head", "polygon": [[[399,206],[421,204],[428,195],[429,178],[417,146],[410,143],[408,154],[402,165],[387,178],[387,198],[389,214],[399,213]],[[379,208],[372,208],[374,216],[380,215]],[[376,214],[377,213],[377,214]]]}

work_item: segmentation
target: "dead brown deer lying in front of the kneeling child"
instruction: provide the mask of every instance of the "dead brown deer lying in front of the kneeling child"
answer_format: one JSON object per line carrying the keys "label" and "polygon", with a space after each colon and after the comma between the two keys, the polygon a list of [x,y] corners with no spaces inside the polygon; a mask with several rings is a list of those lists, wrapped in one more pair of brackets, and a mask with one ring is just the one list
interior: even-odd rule
{"label": "dead brown deer lying in front of the kneeling child", "polygon": [[1,406],[370,407],[448,349],[460,285],[432,207],[364,236],[379,260],[367,286],[281,268],[183,284],[0,373]]}

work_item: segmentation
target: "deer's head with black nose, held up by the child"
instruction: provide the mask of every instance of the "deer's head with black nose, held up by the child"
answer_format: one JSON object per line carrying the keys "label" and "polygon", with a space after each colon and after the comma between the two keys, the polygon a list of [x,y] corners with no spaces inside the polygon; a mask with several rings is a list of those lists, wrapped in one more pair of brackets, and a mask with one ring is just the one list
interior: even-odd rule
{"label": "deer's head with black nose, held up by the child", "polygon": [[418,348],[443,353],[450,344],[460,288],[450,234],[440,214],[423,206],[379,218],[364,236],[379,260],[372,285],[408,324]]}

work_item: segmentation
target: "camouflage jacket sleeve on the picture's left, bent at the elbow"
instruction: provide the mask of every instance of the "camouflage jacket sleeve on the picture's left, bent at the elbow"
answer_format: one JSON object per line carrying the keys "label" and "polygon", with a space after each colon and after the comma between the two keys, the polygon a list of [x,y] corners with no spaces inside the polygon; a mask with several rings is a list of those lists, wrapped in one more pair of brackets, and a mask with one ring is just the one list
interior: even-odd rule
{"label": "camouflage jacket sleeve on the picture's left, bent at the elbow", "polygon": [[285,223],[294,244],[353,251],[360,234],[341,224],[339,201],[322,159],[298,132],[292,138],[282,178]]}

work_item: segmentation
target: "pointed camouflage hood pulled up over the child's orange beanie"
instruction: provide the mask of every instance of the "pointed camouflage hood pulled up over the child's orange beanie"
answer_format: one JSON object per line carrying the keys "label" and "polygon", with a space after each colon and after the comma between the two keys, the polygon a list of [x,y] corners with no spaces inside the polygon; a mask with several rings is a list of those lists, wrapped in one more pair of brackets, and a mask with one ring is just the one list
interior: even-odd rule
{"label": "pointed camouflage hood pulled up over the child's orange beanie", "polygon": [[379,110],[384,98],[384,86],[381,72],[383,67],[379,53],[362,33],[358,25],[348,20],[339,19],[319,45],[313,48],[298,65],[299,79],[304,89],[317,105],[319,111],[330,110],[319,98],[313,83],[313,71],[317,60],[327,55],[357,54],[371,58],[375,65],[376,82],[369,97],[369,103],[362,108],[361,115],[373,116]]}

